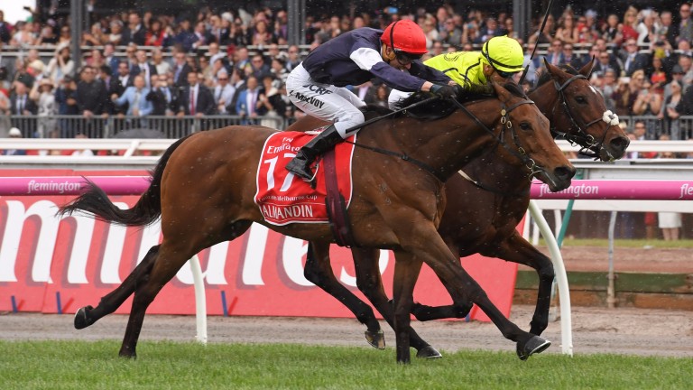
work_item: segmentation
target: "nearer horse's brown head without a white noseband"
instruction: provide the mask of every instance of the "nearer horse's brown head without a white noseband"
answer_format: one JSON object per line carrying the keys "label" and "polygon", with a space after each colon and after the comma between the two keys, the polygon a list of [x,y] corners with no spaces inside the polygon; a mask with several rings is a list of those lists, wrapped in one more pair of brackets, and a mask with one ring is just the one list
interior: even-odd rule
{"label": "nearer horse's brown head without a white noseband", "polygon": [[568,162],[549,130],[549,120],[543,116],[534,102],[522,94],[515,84],[505,87],[494,84],[501,120],[501,153],[519,158],[530,170],[531,176],[549,185],[550,190],[565,190],[575,175],[575,167]]}

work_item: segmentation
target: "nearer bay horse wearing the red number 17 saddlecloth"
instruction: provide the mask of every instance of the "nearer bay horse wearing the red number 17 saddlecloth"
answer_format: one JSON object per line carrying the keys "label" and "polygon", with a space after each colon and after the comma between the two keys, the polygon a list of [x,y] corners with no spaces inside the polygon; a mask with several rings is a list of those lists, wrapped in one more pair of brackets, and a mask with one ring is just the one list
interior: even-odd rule
{"label": "nearer bay horse wearing the red number 17 saddlecloth", "polygon": [[[422,263],[444,281],[453,302],[469,301],[467,287],[460,283],[464,270],[437,231],[445,208],[444,182],[496,144],[504,145],[498,154],[509,163],[531,162],[551,190],[568,188],[575,174],[537,107],[522,94],[514,95],[497,85],[494,89],[497,98],[466,106],[453,102],[457,106],[438,118],[407,115],[383,119],[365,125],[358,137],[362,147],[353,155],[355,196],[348,216],[359,246],[395,253],[393,326],[398,362],[411,361],[412,291]],[[147,307],[180,267],[202,249],[239,237],[253,222],[318,245],[334,242],[328,223],[272,225],[254,203],[261,150],[275,132],[263,126],[228,126],[189,135],[163,153],[150,187],[133,208],[115,207],[96,185],[61,207],[62,214],[82,210],[125,226],[144,226],[158,218],[162,224],[162,243],[152,246],[96,308],[80,308],[75,328],[86,328],[112,313],[134,293],[119,355],[136,357]],[[376,153],[377,148],[391,153]],[[512,339],[518,348],[528,351],[546,342],[519,328],[513,330]]]}

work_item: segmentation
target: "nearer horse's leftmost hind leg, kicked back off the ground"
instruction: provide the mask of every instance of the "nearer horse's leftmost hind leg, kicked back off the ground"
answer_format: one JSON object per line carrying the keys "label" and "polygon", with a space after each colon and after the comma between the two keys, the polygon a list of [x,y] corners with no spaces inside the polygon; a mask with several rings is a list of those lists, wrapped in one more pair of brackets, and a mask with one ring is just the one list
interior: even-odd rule
{"label": "nearer horse's leftmost hind leg, kicked back off the ground", "polygon": [[96,308],[85,306],[80,308],[75,314],[75,329],[84,329],[97,320],[114,312],[137,288],[138,284],[143,283],[144,279],[152,271],[152,265],[159,252],[159,246],[152,246],[144,255],[142,262],[137,265],[133,272],[125,278],[114,291],[108,292],[98,302]]}

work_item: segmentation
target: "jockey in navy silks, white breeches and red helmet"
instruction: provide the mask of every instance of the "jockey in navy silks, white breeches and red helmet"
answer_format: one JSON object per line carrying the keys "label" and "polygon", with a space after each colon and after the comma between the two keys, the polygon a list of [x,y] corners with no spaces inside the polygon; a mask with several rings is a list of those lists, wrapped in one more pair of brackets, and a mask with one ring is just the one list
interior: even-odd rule
{"label": "jockey in navy silks, white breeches and red helmet", "polygon": [[456,88],[448,76],[420,61],[426,52],[426,36],[411,20],[394,22],[384,31],[364,27],[345,32],[311,51],[291,70],[286,90],[296,107],[333,125],[300,148],[286,169],[312,181],[310,165],[316,157],[354,135],[365,122],[358,108],[365,102],[347,85],[378,78],[390,88],[454,97]]}

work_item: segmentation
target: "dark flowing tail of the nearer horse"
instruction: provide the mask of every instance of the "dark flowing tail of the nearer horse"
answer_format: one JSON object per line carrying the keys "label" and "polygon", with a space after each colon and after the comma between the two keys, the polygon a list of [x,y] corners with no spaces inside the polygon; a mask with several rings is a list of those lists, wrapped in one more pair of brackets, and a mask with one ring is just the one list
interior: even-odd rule
{"label": "dark flowing tail of the nearer horse", "polygon": [[[189,135],[188,135],[189,136]],[[119,209],[108,199],[106,192],[95,183],[88,181],[87,191],[79,195],[58,211],[59,215],[71,215],[75,211],[86,211],[93,214],[93,218],[105,222],[113,222],[124,226],[146,226],[152,224],[162,215],[162,176],[166,163],[173,151],[185,141],[188,136],[171,144],[163,153],[159,163],[151,172],[152,181],[149,188],[144,191],[140,200],[132,209]]]}

